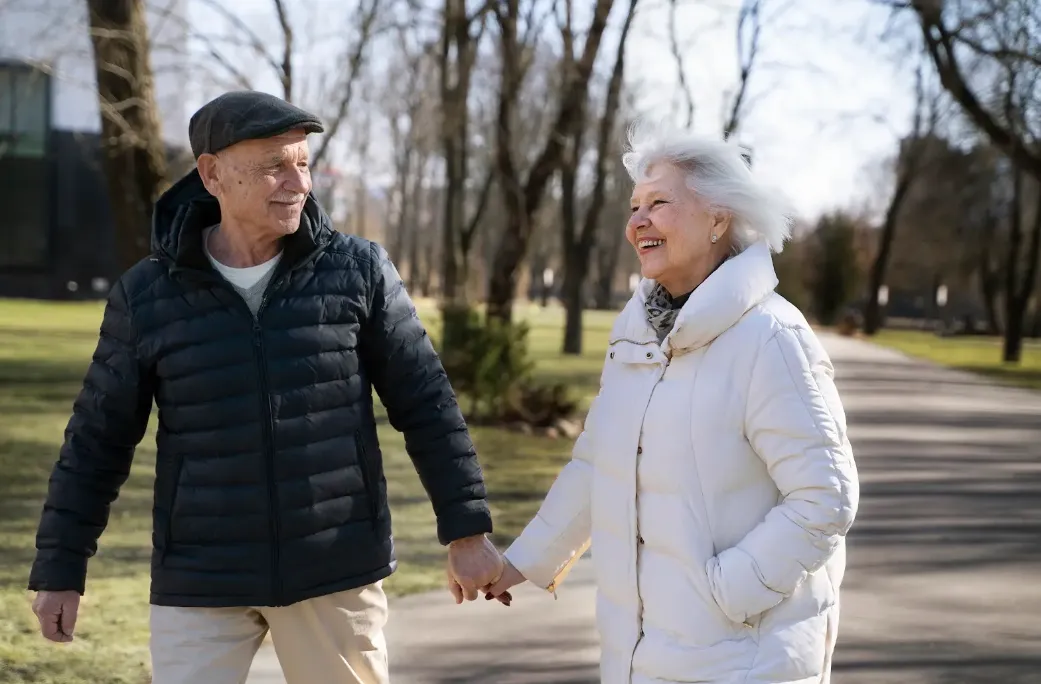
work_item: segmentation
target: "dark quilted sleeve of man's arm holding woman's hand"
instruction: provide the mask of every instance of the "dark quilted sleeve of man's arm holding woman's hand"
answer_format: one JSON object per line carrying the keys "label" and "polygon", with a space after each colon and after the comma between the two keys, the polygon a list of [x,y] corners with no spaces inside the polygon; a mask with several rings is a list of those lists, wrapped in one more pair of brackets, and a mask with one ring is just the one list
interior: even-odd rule
{"label": "dark quilted sleeve of man's arm holding woman's hand", "polygon": [[362,360],[437,516],[442,544],[491,532],[484,477],[455,391],[386,251],[372,246]]}

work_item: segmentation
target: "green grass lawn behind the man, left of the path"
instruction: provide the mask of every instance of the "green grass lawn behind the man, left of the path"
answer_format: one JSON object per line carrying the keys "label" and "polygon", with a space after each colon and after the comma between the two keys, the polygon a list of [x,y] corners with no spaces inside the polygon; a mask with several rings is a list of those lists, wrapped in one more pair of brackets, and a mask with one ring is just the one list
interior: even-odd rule
{"label": "green grass lawn behind the man, left of the path", "polygon": [[[427,310],[426,308],[424,309]],[[112,509],[76,640],[57,645],[36,633],[25,589],[47,479],[72,402],[97,341],[102,306],[0,300],[0,682],[145,684],[148,672],[148,563],[151,552],[153,425]],[[595,391],[613,314],[586,314],[586,353],[559,354],[563,314],[528,309],[536,373],[566,381],[584,400]],[[425,315],[425,319],[428,316]],[[436,321],[429,315],[431,328]],[[505,546],[531,518],[570,453],[570,441],[475,428],[496,520]],[[443,585],[445,551],[430,504],[404,452],[381,428],[400,569],[386,582],[402,594]]]}

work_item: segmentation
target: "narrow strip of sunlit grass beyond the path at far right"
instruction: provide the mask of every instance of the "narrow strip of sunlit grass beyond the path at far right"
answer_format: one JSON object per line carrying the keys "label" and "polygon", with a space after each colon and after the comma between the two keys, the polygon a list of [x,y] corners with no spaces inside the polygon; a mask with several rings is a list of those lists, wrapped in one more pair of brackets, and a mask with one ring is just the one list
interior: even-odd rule
{"label": "narrow strip of sunlit grass beyond the path at far right", "polygon": [[1023,346],[1020,362],[1012,364],[1001,362],[998,337],[939,337],[916,330],[882,330],[870,339],[911,356],[980,373],[1008,384],[1041,389],[1041,345],[1035,340]]}

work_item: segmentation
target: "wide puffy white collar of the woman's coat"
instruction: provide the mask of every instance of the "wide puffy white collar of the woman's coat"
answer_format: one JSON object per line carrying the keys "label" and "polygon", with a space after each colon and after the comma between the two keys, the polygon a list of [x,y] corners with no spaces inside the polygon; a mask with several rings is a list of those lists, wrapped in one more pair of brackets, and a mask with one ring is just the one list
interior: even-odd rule
{"label": "wide puffy white collar of the woman's coat", "polygon": [[[610,343],[657,345],[644,304],[655,281],[643,279],[611,330]],[[759,242],[728,259],[690,295],[662,343],[666,353],[699,349],[721,335],[778,285],[769,246]]]}

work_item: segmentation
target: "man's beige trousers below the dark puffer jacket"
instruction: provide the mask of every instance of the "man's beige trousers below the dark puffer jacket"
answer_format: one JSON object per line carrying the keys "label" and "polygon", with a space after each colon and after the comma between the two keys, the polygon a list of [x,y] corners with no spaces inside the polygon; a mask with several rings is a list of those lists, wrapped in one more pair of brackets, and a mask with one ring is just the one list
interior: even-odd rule
{"label": "man's beige trousers below the dark puffer jacket", "polygon": [[286,684],[389,684],[383,583],[281,608],[152,606],[152,684],[245,684],[271,631]]}

